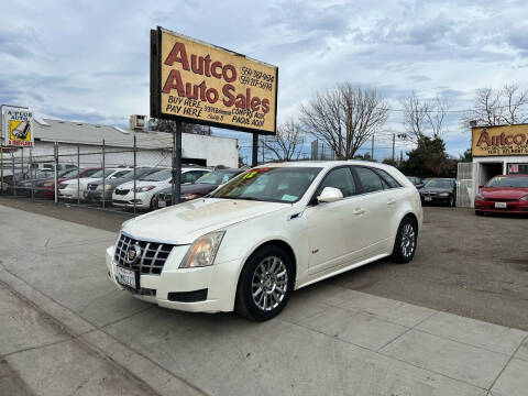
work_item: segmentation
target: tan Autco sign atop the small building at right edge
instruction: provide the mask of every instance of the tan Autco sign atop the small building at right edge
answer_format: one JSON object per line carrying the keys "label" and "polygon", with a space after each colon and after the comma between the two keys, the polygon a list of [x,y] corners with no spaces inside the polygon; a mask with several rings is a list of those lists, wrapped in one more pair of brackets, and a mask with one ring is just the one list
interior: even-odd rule
{"label": "tan Autco sign atop the small building at right edge", "polygon": [[528,155],[528,124],[472,129],[473,156]]}

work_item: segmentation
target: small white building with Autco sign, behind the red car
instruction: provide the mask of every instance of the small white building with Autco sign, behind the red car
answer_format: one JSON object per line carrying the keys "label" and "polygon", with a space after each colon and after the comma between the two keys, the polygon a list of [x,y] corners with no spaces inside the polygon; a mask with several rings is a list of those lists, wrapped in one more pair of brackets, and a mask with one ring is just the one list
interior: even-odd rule
{"label": "small white building with Autco sign, behind the red car", "polygon": [[528,124],[472,128],[471,206],[493,176],[528,174]]}

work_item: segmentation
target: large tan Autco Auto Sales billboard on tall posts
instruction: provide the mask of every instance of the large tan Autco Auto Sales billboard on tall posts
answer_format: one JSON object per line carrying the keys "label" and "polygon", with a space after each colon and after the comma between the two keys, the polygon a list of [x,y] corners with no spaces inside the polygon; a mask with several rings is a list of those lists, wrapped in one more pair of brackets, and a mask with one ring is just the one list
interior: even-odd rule
{"label": "large tan Autco Auto Sales billboard on tall posts", "polygon": [[275,133],[277,67],[162,28],[151,50],[151,117]]}

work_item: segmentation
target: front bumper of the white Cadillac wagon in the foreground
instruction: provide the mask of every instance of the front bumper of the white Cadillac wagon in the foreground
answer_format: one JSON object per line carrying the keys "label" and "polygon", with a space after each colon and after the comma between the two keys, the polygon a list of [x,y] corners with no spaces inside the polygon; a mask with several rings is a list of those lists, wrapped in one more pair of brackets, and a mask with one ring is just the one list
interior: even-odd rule
{"label": "front bumper of the white Cadillac wagon in the foreground", "polygon": [[[117,265],[113,246],[107,249],[108,277],[120,289],[135,298],[157,304],[161,307],[193,312],[229,312],[234,309],[240,261],[231,261],[198,268],[178,268],[188,245],[175,246],[161,275],[140,275],[138,289],[123,287],[116,280]],[[186,296],[202,296],[198,301],[187,302]],[[200,292],[200,293],[198,293]]]}

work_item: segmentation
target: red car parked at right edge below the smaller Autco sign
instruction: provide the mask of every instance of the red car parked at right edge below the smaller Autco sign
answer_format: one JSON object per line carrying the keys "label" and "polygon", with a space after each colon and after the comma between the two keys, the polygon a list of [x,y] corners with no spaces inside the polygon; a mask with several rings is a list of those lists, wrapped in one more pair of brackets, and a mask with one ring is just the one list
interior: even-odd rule
{"label": "red car parked at right edge below the smaller Autco sign", "polygon": [[491,178],[475,196],[475,213],[528,215],[528,175],[502,175]]}

